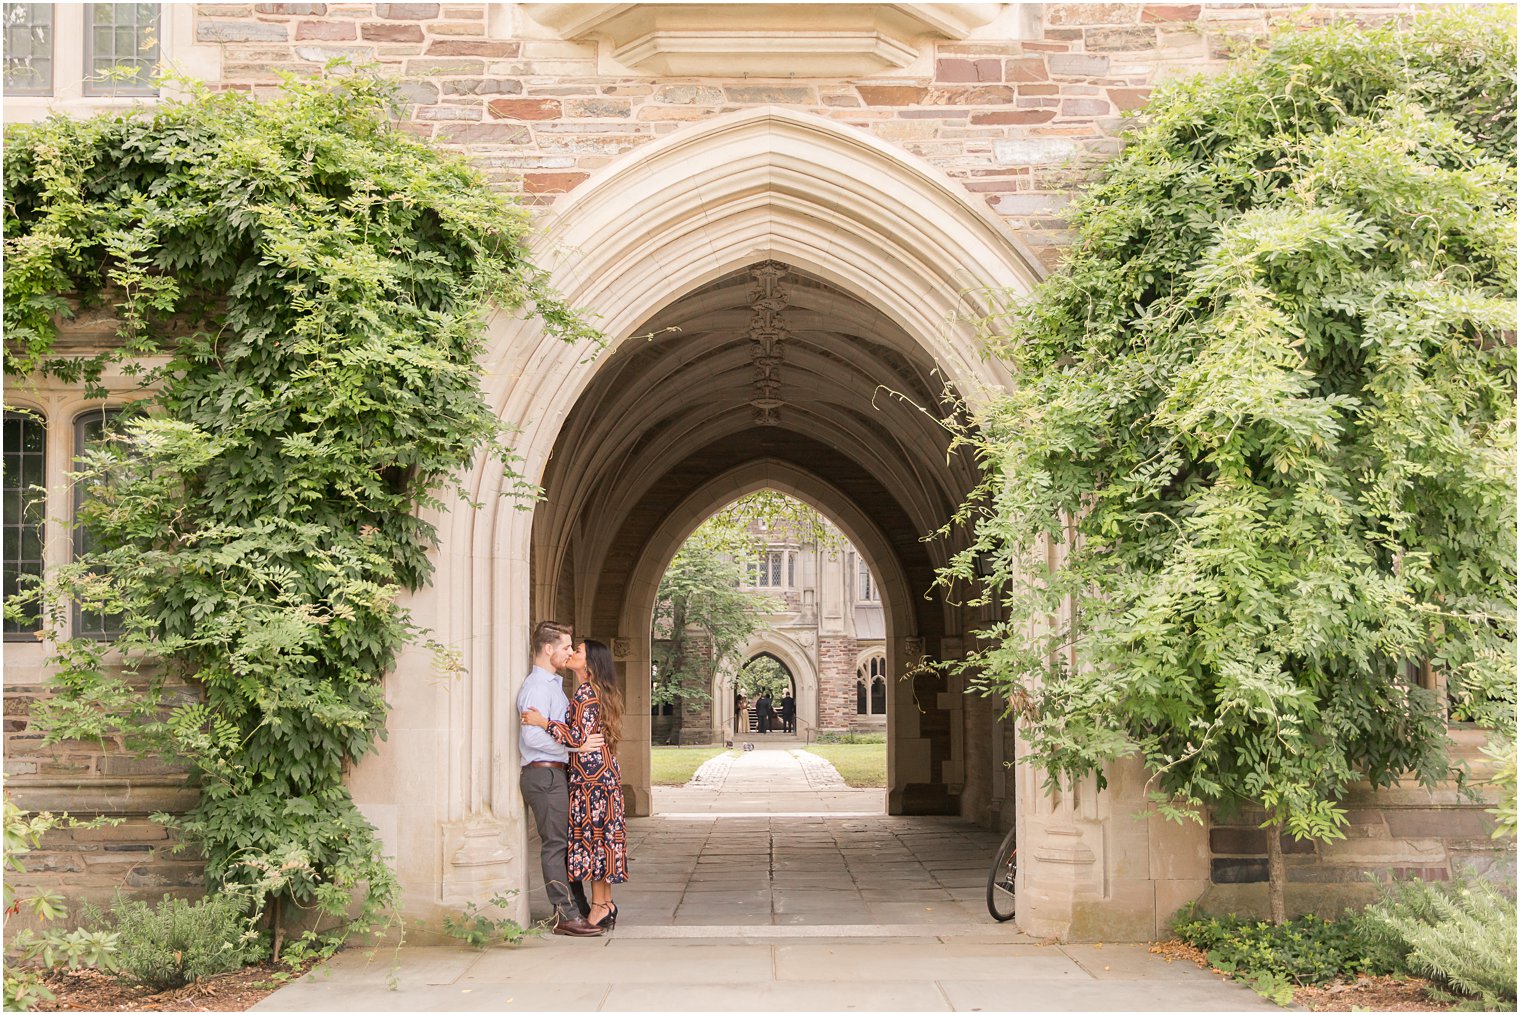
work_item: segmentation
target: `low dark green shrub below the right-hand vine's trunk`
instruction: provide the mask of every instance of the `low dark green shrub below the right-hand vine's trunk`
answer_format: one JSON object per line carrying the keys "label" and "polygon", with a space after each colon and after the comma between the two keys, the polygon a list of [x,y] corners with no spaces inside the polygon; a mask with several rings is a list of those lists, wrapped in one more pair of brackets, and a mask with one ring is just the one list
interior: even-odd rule
{"label": "low dark green shrub below the right-hand vine's trunk", "polygon": [[[1359,915],[1338,921],[1300,916],[1272,924],[1239,916],[1198,916],[1193,907],[1186,907],[1172,930],[1207,951],[1216,969],[1248,983],[1310,986],[1341,975],[1394,972],[1397,968],[1395,956]],[[1272,997],[1271,991],[1262,992]]]}

